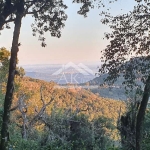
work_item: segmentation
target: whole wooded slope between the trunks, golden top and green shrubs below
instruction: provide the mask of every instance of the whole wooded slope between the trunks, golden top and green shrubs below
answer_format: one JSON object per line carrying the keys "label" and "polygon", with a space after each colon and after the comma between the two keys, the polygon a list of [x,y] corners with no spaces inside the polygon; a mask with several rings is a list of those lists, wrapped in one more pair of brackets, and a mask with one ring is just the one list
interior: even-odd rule
{"label": "whole wooded slope between the trunks, golden top and green shrubs below", "polygon": [[120,137],[117,121],[125,109],[124,102],[80,86],[16,77],[9,144],[16,150],[114,147]]}

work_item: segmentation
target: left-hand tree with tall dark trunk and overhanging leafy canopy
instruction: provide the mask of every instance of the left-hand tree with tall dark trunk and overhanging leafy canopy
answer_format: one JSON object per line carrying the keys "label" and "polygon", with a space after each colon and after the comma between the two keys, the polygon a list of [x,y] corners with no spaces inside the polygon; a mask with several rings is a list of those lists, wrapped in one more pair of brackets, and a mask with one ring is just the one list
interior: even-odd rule
{"label": "left-hand tree with tall dark trunk and overhanging leafy canopy", "polygon": [[6,149],[8,142],[9,110],[14,90],[13,82],[17,64],[17,53],[19,51],[21,21],[27,14],[34,16],[35,23],[32,25],[33,34],[39,33],[39,40],[42,41],[42,46],[45,46],[45,38],[43,37],[44,32],[49,31],[52,36],[60,37],[60,29],[64,27],[63,22],[67,19],[63,10],[67,7],[62,1],[51,0],[6,0],[5,2],[2,1],[0,3],[0,7],[0,29],[3,29],[4,24],[7,25],[10,21],[14,21],[15,24],[1,130],[1,149],[4,150]]}

